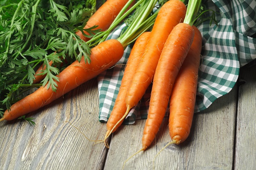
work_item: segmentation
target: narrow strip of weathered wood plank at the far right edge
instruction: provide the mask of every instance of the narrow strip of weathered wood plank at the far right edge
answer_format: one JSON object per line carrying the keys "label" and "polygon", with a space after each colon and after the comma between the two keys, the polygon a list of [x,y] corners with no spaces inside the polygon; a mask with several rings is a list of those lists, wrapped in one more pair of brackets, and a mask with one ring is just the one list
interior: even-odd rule
{"label": "narrow strip of weathered wood plank at the far right edge", "polygon": [[256,167],[256,66],[241,68],[236,126],[235,170]]}

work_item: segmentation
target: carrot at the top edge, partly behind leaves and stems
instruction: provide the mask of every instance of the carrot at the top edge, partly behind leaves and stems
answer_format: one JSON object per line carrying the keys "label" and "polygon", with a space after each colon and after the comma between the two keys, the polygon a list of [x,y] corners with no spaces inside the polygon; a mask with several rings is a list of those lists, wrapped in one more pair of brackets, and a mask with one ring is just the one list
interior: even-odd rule
{"label": "carrot at the top edge, partly behind leaves and stems", "polygon": [[[86,26],[84,26],[84,29],[97,26],[97,28],[95,29],[101,29],[101,31],[107,30],[127,2],[128,0],[107,0],[89,18]],[[131,4],[131,6],[134,5],[134,3],[135,0]],[[89,33],[87,33],[86,31],[84,31],[84,34],[89,35]],[[77,31],[76,35],[78,35],[84,41],[90,40],[90,38],[84,37],[81,31]]]}

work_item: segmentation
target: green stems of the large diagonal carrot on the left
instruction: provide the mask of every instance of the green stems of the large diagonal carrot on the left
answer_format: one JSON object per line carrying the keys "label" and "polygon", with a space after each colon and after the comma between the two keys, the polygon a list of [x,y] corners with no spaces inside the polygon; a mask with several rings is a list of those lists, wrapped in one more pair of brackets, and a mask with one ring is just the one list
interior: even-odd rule
{"label": "green stems of the large diagonal carrot on the left", "polygon": [[96,34],[96,36],[87,41],[87,43],[93,46],[105,41],[111,31],[113,31],[113,29],[122,23],[122,21],[128,16],[130,17],[131,22],[127,24],[125,31],[122,32],[118,38],[124,48],[134,42],[140,34],[152,26],[157,15],[157,11],[154,12],[154,14],[151,13],[158,0],[138,0],[134,6],[125,12],[132,1],[133,0],[129,0],[124,8],[122,8],[108,30],[101,32],[100,34]]}

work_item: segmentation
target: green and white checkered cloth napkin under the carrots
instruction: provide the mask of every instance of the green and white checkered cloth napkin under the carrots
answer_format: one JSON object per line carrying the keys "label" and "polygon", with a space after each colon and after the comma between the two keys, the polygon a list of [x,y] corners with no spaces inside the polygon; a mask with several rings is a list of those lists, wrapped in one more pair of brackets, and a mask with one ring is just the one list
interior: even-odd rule
{"label": "green and white checkered cloth napkin under the carrots", "polygon": [[[218,12],[218,26],[214,23],[210,26],[209,20],[198,26],[203,48],[195,112],[203,111],[215,99],[229,93],[238,79],[240,67],[256,59],[256,39],[250,37],[256,33],[256,1],[208,0],[204,4]],[[124,26],[116,28],[109,39],[116,39]],[[130,51],[131,46],[128,46],[117,65],[98,76],[100,122],[108,121]],[[130,111],[124,124],[147,118],[150,90],[151,87]]]}

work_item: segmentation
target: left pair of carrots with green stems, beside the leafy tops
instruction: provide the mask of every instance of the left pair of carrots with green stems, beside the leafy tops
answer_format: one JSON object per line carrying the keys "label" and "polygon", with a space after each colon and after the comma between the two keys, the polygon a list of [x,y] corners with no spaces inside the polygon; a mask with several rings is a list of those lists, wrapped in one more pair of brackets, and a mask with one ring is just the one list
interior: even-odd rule
{"label": "left pair of carrots with green stems, beside the leafy tops", "polygon": [[[154,18],[157,14],[151,14],[157,0],[138,0],[137,3],[134,2],[135,0],[106,1],[87,23],[91,26],[99,24],[100,29],[106,29],[87,41],[90,47],[93,47],[90,50],[90,63],[85,62],[83,58],[80,62],[73,62],[57,76],[58,81],[55,81],[56,91],[53,91],[51,87],[47,87],[48,85],[41,86],[34,93],[13,104],[9,110],[4,112],[0,121],[17,119],[27,113],[36,111],[115,65],[121,59],[126,46],[153,25],[152,23],[154,23]],[[140,11],[138,12],[138,20],[131,22],[118,40],[106,40],[113,28],[135,9]],[[107,20],[107,16],[111,19]],[[107,22],[101,25],[105,21]],[[78,32],[78,34],[80,33]],[[87,34],[82,32],[80,36],[85,39],[84,37],[87,37]],[[44,69],[44,67],[41,69]]]}

